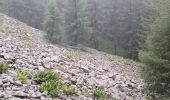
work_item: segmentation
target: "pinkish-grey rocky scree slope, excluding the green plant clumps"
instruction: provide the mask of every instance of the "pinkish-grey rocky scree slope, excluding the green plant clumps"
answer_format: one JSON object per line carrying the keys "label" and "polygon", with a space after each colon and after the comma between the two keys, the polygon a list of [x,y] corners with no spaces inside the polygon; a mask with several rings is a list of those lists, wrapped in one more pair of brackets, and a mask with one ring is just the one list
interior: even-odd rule
{"label": "pinkish-grey rocky scree slope, excluding the green plant clumps", "polygon": [[0,99],[50,100],[33,78],[26,84],[15,80],[17,70],[52,70],[76,95],[54,100],[95,100],[90,94],[104,89],[107,100],[145,100],[144,82],[136,62],[88,49],[87,52],[47,43],[43,32],[0,14],[0,62],[10,69],[0,75]]}

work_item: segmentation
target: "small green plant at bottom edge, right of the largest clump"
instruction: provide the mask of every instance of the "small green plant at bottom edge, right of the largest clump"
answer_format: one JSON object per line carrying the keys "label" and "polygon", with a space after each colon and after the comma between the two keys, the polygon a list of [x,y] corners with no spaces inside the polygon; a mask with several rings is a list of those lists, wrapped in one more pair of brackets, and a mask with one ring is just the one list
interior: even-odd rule
{"label": "small green plant at bottom edge, right of the largest clump", "polygon": [[104,91],[102,91],[102,90],[99,90],[99,89],[95,90],[92,95],[97,100],[105,100],[105,98],[106,98],[106,93]]}

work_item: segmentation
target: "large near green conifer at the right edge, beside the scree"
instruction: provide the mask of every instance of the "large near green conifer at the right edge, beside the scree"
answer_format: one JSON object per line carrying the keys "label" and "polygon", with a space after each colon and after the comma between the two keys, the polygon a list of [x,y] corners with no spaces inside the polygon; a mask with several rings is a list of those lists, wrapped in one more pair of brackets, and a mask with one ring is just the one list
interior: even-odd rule
{"label": "large near green conifer at the right edge, beside the scree", "polygon": [[144,76],[153,92],[166,92],[170,86],[170,1],[155,0],[158,12],[147,34],[146,50],[140,52]]}

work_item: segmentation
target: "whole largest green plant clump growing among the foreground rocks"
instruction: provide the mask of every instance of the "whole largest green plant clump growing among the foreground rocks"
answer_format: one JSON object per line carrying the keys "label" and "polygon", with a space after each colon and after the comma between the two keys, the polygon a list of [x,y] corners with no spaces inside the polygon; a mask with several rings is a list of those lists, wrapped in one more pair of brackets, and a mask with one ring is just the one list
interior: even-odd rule
{"label": "whole largest green plant clump growing among the foreground rocks", "polygon": [[41,71],[35,75],[35,81],[40,84],[40,90],[47,92],[52,97],[60,97],[61,94],[76,94],[75,88],[60,82],[59,77],[52,71]]}

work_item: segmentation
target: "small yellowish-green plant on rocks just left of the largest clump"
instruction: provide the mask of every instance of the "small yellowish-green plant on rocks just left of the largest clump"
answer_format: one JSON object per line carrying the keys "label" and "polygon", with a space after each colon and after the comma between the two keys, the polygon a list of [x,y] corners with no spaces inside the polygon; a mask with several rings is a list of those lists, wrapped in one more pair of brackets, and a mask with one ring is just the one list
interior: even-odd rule
{"label": "small yellowish-green plant on rocks just left of the largest clump", "polygon": [[28,75],[29,75],[28,71],[19,71],[17,73],[16,79],[21,81],[22,84],[26,84]]}

